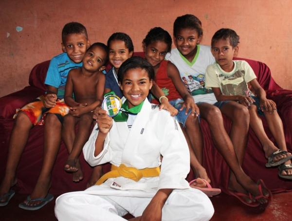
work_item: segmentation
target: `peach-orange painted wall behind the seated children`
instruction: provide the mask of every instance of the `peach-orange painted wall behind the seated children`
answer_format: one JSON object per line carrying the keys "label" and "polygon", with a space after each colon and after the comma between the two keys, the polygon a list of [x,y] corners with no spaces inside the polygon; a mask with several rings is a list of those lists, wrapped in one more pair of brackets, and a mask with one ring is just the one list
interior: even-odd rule
{"label": "peach-orange painted wall behind the seated children", "polygon": [[239,56],[268,64],[276,82],[292,89],[291,8],[291,0],[1,0],[0,96],[27,86],[34,65],[61,53],[67,22],[83,23],[91,42],[126,32],[141,51],[151,27],[172,35],[174,19],[187,13],[201,19],[203,44],[219,28],[235,29]]}

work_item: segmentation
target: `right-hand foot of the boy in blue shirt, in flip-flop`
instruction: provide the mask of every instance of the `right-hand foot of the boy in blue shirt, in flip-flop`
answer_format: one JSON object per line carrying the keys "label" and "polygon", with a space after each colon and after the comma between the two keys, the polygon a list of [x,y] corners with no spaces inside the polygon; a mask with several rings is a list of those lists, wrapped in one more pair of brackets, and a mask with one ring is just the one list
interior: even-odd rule
{"label": "right-hand foot of the boy in blue shirt, in flip-flop", "polygon": [[[50,177],[49,178],[46,177],[44,179],[38,178],[35,189],[30,195],[31,200],[34,200],[37,198],[45,198],[49,192],[50,187],[51,187]],[[36,206],[42,203],[42,201],[27,202],[27,200],[25,200],[24,203],[26,203],[28,206]]]}

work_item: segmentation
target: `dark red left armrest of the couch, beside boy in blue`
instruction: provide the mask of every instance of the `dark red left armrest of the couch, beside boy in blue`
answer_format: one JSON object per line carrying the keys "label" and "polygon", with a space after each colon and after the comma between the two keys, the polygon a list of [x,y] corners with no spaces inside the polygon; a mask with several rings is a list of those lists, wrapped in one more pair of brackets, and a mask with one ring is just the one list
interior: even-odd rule
{"label": "dark red left armrest of the couch, beside boy in blue", "polygon": [[21,91],[0,97],[0,118],[12,118],[16,109],[34,101],[43,93],[39,88],[28,86]]}

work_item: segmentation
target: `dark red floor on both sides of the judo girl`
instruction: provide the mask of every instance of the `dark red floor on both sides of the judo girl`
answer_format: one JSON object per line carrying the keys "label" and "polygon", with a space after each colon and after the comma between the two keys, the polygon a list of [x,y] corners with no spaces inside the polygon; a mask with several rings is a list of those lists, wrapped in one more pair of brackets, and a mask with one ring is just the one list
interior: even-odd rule
{"label": "dark red floor on both sides of the judo girl", "polygon": [[[0,207],[1,221],[56,221],[54,202],[37,211],[18,208],[18,203],[25,195],[16,194],[8,206]],[[240,203],[236,198],[221,194],[211,199],[215,214],[211,221],[291,221],[292,192],[274,194],[273,201],[265,211],[251,208]]]}

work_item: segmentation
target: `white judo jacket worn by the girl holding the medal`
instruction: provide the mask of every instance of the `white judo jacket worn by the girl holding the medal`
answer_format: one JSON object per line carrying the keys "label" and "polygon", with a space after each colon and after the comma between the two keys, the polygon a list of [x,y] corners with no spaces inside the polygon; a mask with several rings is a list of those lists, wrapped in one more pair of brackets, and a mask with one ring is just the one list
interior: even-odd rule
{"label": "white judo jacket worn by the girl holding the medal", "polygon": [[[167,111],[146,99],[131,129],[127,122],[114,122],[104,148],[94,156],[97,124],[83,154],[91,166],[110,162],[137,169],[161,166],[159,177],[141,178],[138,182],[125,177],[110,178],[85,192],[105,196],[153,197],[158,189],[188,189],[185,180],[190,170],[189,149],[179,123]],[[161,157],[163,160],[161,162]],[[142,191],[141,191],[142,190]]]}

